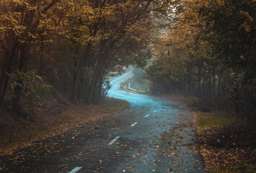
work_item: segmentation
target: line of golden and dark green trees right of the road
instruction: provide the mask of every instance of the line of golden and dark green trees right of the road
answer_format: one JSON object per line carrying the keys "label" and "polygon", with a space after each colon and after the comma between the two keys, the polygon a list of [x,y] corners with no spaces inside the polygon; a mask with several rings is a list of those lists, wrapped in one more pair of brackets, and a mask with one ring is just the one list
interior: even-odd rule
{"label": "line of golden and dark green trees right of the road", "polygon": [[146,68],[154,94],[182,92],[202,107],[254,115],[256,3],[252,0],[169,2],[162,43]]}

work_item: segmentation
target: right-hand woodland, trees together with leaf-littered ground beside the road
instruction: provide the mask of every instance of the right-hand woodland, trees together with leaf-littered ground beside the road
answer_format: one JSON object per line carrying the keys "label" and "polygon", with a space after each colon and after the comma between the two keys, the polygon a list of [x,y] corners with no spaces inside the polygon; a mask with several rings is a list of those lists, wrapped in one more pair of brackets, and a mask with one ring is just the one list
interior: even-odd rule
{"label": "right-hand woodland, trees together with leaf-littered ground beside the road", "polygon": [[256,1],[172,1],[146,66],[152,94],[195,109],[208,172],[255,172]]}

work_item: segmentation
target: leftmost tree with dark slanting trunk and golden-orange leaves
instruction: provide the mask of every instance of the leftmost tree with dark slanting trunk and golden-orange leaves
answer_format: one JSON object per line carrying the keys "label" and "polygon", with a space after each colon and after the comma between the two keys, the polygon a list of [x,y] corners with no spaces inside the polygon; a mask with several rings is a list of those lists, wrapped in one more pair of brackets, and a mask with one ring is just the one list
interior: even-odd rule
{"label": "leftmost tree with dark slanting trunk and golden-orange leaves", "polygon": [[[54,20],[50,9],[59,0],[52,1],[1,1],[0,4],[0,39],[1,39],[1,78],[0,106],[2,107],[9,75],[14,71],[29,70],[30,50],[33,46],[43,43],[46,35],[52,30]],[[18,80],[14,88],[12,105],[19,105],[19,95],[22,90],[22,80]],[[19,107],[19,106],[18,106]],[[17,112],[19,108],[17,107]]]}

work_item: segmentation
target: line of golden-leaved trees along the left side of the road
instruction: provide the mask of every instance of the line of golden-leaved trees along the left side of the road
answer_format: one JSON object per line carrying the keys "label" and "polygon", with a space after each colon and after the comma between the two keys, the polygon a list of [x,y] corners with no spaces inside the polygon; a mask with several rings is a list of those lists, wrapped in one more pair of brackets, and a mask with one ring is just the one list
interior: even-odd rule
{"label": "line of golden-leaved trees along the left side of the road", "polygon": [[154,17],[165,1],[2,0],[0,106],[21,111],[54,87],[97,103],[107,79],[150,58]]}

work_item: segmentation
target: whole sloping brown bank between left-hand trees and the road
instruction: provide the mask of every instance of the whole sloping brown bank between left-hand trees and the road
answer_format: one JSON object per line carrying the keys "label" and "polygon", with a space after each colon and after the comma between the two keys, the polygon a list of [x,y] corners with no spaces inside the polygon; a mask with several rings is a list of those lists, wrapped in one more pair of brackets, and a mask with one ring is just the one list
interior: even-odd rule
{"label": "whole sloping brown bank between left-hand trees and the road", "polygon": [[0,110],[0,154],[30,146],[33,141],[55,136],[127,107],[128,102],[113,98],[105,98],[99,105],[74,104],[55,92],[45,95],[33,107],[22,107],[25,112],[22,117],[8,109]]}

